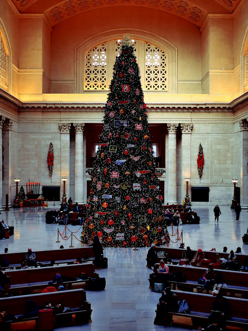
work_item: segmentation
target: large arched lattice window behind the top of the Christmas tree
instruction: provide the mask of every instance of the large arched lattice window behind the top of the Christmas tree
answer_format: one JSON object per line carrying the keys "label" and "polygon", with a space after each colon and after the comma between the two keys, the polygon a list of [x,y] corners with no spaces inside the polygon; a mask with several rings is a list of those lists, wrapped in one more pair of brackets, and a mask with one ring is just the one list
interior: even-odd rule
{"label": "large arched lattice window behind the top of the Christmas tree", "polygon": [[[135,39],[134,45],[143,90],[168,93],[168,52],[145,40]],[[121,40],[113,39],[84,53],[84,91],[108,90],[120,48]]]}

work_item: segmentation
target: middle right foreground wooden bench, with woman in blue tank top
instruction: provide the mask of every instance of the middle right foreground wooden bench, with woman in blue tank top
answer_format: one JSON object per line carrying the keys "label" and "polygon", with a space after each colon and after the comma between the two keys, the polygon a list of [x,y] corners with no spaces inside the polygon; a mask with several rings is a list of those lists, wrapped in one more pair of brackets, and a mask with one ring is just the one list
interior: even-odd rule
{"label": "middle right foreground wooden bench, with woman in blue tank top", "polygon": [[[199,278],[203,277],[206,268],[197,268],[197,267],[185,267],[181,265],[170,264],[169,271],[170,273],[176,273],[177,271],[182,272],[185,275],[186,282],[177,282],[173,281],[174,284],[182,285],[182,290],[197,289],[201,288],[202,285],[197,283]],[[159,263],[154,265],[154,269],[159,268]],[[216,269],[222,274],[223,282],[227,284],[227,287],[222,287],[222,292],[230,293],[230,295],[239,294],[243,295],[245,298],[248,297],[248,274],[246,272],[239,271],[229,271],[229,270],[220,270]],[[154,286],[154,279],[149,279],[150,287]],[[170,281],[169,281],[170,282]]]}

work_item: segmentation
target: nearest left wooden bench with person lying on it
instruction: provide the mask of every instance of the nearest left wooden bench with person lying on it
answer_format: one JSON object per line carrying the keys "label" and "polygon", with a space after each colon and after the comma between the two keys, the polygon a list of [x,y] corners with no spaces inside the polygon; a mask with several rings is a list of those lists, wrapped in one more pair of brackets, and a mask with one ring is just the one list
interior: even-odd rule
{"label": "nearest left wooden bench with person lying on it", "polygon": [[[16,317],[26,313],[27,299],[33,301],[38,306],[45,306],[48,303],[52,305],[63,304],[65,307],[70,307],[70,311],[54,315],[55,326],[68,326],[73,324],[83,324],[92,322],[90,303],[86,300],[86,292],[82,289],[69,290],[62,292],[33,294],[29,297],[19,296],[11,298],[3,298],[0,300],[1,311],[16,315]],[[25,323],[27,321],[38,321],[38,317],[31,317],[23,320],[15,320],[11,323]],[[6,323],[4,323],[6,324]],[[16,325],[15,325],[16,327]],[[18,329],[18,326],[16,327]],[[22,327],[23,328],[23,327]],[[28,328],[28,325],[27,325]]]}

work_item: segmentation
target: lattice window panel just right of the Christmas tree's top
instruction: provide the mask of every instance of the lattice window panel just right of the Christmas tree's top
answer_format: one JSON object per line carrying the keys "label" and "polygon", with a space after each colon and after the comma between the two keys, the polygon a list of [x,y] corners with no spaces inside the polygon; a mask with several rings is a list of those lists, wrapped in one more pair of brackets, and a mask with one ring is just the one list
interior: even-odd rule
{"label": "lattice window panel just right of the Christmas tree's top", "polygon": [[167,91],[167,53],[146,42],[145,90]]}

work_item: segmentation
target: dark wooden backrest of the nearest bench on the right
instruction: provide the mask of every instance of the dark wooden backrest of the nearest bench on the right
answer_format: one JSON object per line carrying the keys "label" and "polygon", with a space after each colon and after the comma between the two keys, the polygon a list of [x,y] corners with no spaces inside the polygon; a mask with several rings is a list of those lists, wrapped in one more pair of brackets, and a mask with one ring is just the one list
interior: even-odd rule
{"label": "dark wooden backrest of the nearest bench on the right", "polygon": [[[177,300],[187,300],[190,311],[211,313],[211,308],[215,298],[212,295],[173,291],[177,295]],[[229,317],[247,318],[248,300],[239,298],[226,298],[229,304]]]}

